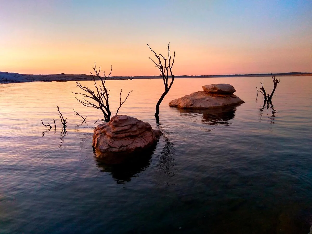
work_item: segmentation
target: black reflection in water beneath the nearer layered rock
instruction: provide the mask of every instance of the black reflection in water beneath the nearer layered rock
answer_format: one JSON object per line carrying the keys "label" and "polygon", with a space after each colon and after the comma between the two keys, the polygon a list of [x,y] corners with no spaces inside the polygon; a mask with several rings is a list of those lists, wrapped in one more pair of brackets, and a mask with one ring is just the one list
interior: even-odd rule
{"label": "black reflection in water beneath the nearer layered rock", "polygon": [[97,166],[103,171],[111,173],[112,177],[118,180],[118,183],[129,182],[132,177],[143,172],[150,165],[155,148],[156,144],[120,164],[106,164],[101,158],[96,158]]}

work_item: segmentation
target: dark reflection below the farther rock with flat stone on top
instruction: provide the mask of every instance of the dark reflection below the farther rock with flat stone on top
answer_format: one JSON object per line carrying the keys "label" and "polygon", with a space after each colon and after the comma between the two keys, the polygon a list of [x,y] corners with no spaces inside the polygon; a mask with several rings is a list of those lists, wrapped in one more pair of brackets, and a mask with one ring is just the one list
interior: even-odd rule
{"label": "dark reflection below the farther rock with flat stone on top", "polygon": [[179,109],[182,114],[202,114],[202,123],[210,125],[232,124],[235,116],[236,106],[227,106],[214,109]]}

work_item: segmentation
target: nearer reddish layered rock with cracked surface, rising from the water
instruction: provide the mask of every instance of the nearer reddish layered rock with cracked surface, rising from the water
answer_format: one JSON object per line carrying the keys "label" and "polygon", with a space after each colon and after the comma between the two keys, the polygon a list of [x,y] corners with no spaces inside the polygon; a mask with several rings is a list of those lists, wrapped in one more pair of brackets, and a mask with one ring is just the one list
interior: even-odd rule
{"label": "nearer reddish layered rock with cracked surface, rising from the water", "polygon": [[127,116],[115,115],[110,122],[99,124],[93,133],[92,146],[96,157],[106,163],[121,163],[149,149],[162,133],[149,123]]}

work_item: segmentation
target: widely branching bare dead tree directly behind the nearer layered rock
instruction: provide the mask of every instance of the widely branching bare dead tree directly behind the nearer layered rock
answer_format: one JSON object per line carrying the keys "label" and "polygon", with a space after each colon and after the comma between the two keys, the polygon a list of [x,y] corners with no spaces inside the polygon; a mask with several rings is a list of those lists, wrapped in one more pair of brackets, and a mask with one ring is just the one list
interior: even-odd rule
{"label": "widely branching bare dead tree directly behind the nearer layered rock", "polygon": [[[78,88],[82,89],[83,91],[85,91],[86,94],[84,94],[84,93],[74,93],[74,92],[72,92],[72,93],[82,95],[83,96],[82,100],[79,100],[78,98],[76,98],[77,101],[80,102],[84,106],[93,107],[95,109],[101,110],[102,113],[104,114],[104,119],[103,120],[105,122],[109,122],[110,121],[110,116],[112,114],[110,112],[110,105],[109,105],[110,95],[109,95],[108,92],[110,90],[107,90],[107,88],[105,86],[105,81],[110,76],[110,74],[112,73],[113,67],[111,66],[110,74],[108,74],[108,76],[105,75],[105,71],[104,71],[104,78],[100,76],[100,72],[102,71],[101,67],[99,67],[99,70],[97,70],[95,62],[94,62],[94,67],[92,67],[92,68],[95,71],[96,77],[101,81],[101,84],[100,85],[96,84],[95,76],[93,76],[92,72],[90,72],[91,75],[92,75],[93,81],[94,81],[95,90],[93,90],[93,89],[91,90],[90,88],[88,88],[86,86],[83,86],[79,82],[76,81],[76,84],[77,84],[76,86]],[[122,90],[121,90],[121,92],[122,92]],[[120,95],[119,95],[120,97],[121,97],[121,92],[120,92]],[[132,92],[132,91],[130,91],[130,92]],[[118,113],[118,110],[120,109],[121,105],[124,104],[124,102],[129,97],[129,93],[128,93],[127,97],[125,98],[125,100],[123,102],[120,101],[120,106],[117,109],[117,113]],[[89,100],[86,100],[87,98],[91,99],[91,101],[93,100],[96,104],[90,102]],[[116,115],[117,115],[117,113],[116,113]]]}

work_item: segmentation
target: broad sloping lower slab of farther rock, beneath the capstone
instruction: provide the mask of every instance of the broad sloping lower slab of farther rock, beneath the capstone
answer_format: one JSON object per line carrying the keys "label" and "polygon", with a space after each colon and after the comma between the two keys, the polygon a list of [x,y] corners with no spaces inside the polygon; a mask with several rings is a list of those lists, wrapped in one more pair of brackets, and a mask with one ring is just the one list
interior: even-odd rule
{"label": "broad sloping lower slab of farther rock, beneath the capstone", "polygon": [[[231,85],[232,86],[232,85]],[[184,109],[212,109],[224,106],[238,105],[244,103],[234,94],[219,94],[198,91],[184,97],[172,100],[169,106]]]}

